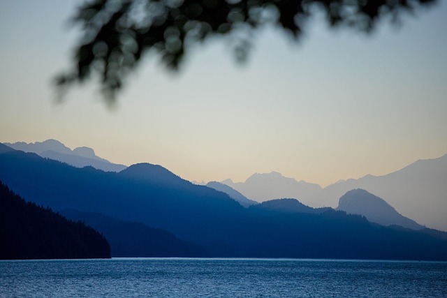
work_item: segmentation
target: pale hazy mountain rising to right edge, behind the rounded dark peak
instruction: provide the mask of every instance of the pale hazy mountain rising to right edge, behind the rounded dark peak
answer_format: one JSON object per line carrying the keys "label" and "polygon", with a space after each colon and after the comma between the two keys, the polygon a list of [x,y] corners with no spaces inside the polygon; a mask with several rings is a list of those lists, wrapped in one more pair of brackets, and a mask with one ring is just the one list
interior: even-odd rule
{"label": "pale hazy mountain rising to right edge, behind the rounded dark peak", "polygon": [[447,154],[416,161],[383,176],[367,175],[332,184],[324,188],[318,200],[331,202],[356,188],[383,198],[400,214],[421,225],[447,231]]}

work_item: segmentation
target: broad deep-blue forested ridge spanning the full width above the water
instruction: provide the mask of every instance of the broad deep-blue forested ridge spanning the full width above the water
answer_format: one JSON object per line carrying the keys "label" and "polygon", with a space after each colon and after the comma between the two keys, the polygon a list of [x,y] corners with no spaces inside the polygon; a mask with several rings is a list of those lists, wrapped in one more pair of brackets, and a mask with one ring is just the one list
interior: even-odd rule
{"label": "broad deep-blue forested ridge spanning the full width above the water", "polygon": [[31,202],[166,230],[211,257],[447,260],[445,233],[426,228],[384,227],[298,201],[285,200],[285,209],[277,203],[244,208],[226,193],[149,163],[104,172],[2,146],[0,152],[0,180]]}

